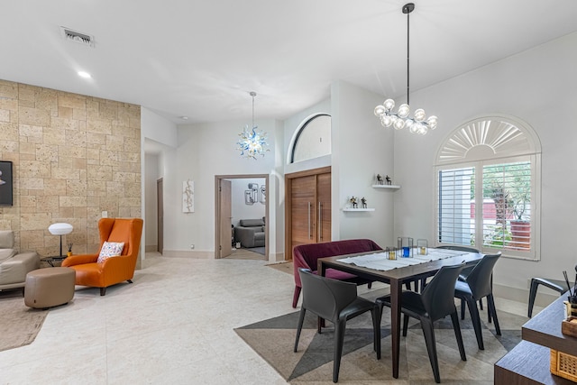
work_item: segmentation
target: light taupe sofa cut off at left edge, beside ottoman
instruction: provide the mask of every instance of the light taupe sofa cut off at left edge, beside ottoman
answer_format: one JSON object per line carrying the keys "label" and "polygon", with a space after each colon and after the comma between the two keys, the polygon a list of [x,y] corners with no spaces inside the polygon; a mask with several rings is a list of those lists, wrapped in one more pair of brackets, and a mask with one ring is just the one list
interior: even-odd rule
{"label": "light taupe sofa cut off at left edge, beside ottoman", "polygon": [[16,252],[14,233],[0,231],[0,290],[24,288],[26,274],[40,268],[36,252]]}

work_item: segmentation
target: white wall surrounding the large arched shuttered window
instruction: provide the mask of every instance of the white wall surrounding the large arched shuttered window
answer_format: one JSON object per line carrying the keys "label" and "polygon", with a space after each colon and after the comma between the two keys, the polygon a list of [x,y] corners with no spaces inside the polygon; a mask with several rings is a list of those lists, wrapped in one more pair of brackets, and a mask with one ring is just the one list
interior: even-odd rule
{"label": "white wall surrounding the large arched shuttered window", "polygon": [[516,292],[527,290],[532,277],[562,279],[562,270],[573,271],[576,68],[577,33],[572,33],[411,94],[411,106],[437,115],[439,126],[426,136],[395,133],[395,181],[402,185],[395,194],[395,230],[433,240],[437,149],[473,117],[513,115],[530,124],[542,144],[541,261],[501,258],[494,282]]}

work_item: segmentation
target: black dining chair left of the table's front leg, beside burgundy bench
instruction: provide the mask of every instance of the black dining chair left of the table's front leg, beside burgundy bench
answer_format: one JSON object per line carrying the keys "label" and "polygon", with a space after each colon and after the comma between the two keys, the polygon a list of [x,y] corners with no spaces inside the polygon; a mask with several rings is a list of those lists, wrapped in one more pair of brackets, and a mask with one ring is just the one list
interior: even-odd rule
{"label": "black dining chair left of the table's front leg, beside burgundy bench", "polygon": [[[329,320],[334,324],[334,366],[333,382],[339,380],[339,368],[343,355],[343,340],[346,321],[370,311],[373,328],[373,348],[380,360],[380,325],[374,302],[357,296],[357,285],[342,280],[331,280],[318,276],[308,269],[298,269],[302,284],[303,303],[298,317],[297,339],[295,353],[298,349],[298,339],[303,328],[307,310],[319,318]],[[320,328],[319,328],[320,333]]]}

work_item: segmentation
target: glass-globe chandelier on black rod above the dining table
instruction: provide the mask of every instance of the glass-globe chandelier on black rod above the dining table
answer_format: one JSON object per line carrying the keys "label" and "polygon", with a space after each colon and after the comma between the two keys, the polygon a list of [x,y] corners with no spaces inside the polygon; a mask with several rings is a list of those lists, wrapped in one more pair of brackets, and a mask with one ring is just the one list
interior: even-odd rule
{"label": "glass-globe chandelier on black rod above the dining table", "polygon": [[421,135],[425,135],[429,132],[429,130],[435,130],[437,124],[437,118],[435,115],[431,115],[428,118],[425,115],[425,110],[419,108],[415,110],[415,114],[412,118],[408,117],[410,109],[408,107],[408,95],[409,95],[409,87],[408,87],[408,64],[409,64],[409,56],[408,56],[408,48],[409,48],[409,39],[408,39],[408,15],[413,12],[415,9],[415,4],[408,3],[403,5],[403,14],[407,14],[407,103],[398,106],[398,110],[395,113],[393,108],[395,107],[395,101],[393,99],[387,99],[382,105],[377,105],[375,107],[375,115],[380,117],[380,124],[384,127],[390,127],[391,125],[395,127],[396,130],[402,130],[403,128],[407,127],[408,131],[411,133],[420,133]]}

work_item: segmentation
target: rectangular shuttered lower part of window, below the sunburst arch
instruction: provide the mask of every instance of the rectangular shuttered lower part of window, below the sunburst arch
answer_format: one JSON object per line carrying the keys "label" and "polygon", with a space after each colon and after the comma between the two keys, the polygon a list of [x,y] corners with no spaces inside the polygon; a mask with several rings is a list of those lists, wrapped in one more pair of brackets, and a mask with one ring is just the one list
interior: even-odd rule
{"label": "rectangular shuttered lower part of window, below the sunburst arch", "polygon": [[437,170],[437,242],[534,255],[532,170],[530,157]]}

